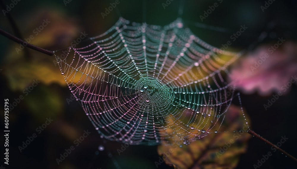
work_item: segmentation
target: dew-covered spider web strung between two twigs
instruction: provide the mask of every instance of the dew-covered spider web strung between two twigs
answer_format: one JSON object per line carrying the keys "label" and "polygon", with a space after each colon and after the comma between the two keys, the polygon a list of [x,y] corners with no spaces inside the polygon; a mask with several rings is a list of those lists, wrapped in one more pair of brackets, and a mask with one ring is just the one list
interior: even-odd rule
{"label": "dew-covered spider web strung between two twigs", "polygon": [[[70,91],[102,138],[155,145],[177,136],[187,144],[217,133],[231,102],[226,69],[241,53],[220,50],[183,28],[130,22],[55,51]],[[190,136],[190,137],[189,137]]]}

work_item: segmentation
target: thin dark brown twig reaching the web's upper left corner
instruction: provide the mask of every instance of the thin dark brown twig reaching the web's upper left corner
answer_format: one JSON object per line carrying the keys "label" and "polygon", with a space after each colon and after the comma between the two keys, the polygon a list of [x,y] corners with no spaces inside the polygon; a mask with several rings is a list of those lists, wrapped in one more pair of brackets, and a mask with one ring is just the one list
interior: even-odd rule
{"label": "thin dark brown twig reaching the web's upper left corner", "polygon": [[53,56],[53,54],[54,54],[53,51],[50,51],[50,50],[47,50],[47,49],[42,49],[42,48],[40,48],[38,46],[34,46],[32,44],[29,44],[29,43],[21,40],[20,38],[17,38],[15,36],[13,36],[12,34],[7,33],[5,30],[0,29],[0,34],[3,35],[3,36],[5,36],[5,37],[7,37],[7,38],[9,38],[9,39],[11,39],[11,40],[13,40],[13,41],[15,41],[15,42],[17,42],[17,43],[27,44],[26,47],[28,47],[30,49],[39,51],[41,53],[44,53],[44,54],[47,54],[47,55],[50,55],[50,56]]}

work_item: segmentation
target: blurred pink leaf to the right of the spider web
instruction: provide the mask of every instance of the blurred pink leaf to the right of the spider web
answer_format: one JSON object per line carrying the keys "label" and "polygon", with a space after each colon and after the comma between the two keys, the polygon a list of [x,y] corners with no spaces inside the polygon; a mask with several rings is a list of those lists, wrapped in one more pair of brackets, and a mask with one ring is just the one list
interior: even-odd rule
{"label": "blurred pink leaf to the right of the spider web", "polygon": [[262,44],[241,57],[230,69],[229,82],[235,82],[238,90],[246,94],[289,93],[291,88],[284,85],[290,81],[297,84],[292,79],[297,74],[297,43],[283,40]]}

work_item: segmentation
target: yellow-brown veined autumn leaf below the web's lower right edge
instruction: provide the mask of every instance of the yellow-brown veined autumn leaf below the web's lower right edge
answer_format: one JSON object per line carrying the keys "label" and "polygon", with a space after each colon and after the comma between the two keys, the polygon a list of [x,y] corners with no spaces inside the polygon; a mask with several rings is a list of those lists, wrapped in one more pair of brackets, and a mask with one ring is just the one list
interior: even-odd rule
{"label": "yellow-brown veined autumn leaf below the web's lower right edge", "polygon": [[[247,118],[247,115],[245,117]],[[221,131],[210,133],[181,147],[176,142],[176,138],[169,140],[171,141],[169,146],[163,141],[158,147],[158,154],[163,158],[160,157],[155,162],[156,166],[158,167],[164,161],[167,165],[178,169],[235,168],[240,154],[246,152],[247,141],[251,137],[244,132],[247,131],[247,124],[240,107],[233,105],[229,107]]]}

